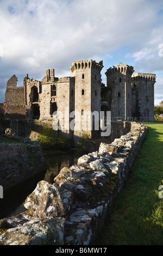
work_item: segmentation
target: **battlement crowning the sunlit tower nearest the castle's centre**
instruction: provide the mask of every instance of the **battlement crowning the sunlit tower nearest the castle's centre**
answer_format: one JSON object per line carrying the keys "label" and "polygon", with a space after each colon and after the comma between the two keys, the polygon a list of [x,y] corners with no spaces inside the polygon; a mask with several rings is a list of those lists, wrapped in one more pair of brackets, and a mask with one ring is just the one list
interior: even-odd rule
{"label": "battlement crowning the sunlit tower nearest the castle's centre", "polygon": [[70,71],[73,73],[77,69],[96,69],[101,71],[103,68],[103,60],[100,60],[98,63],[95,60],[78,60],[72,63],[70,66]]}

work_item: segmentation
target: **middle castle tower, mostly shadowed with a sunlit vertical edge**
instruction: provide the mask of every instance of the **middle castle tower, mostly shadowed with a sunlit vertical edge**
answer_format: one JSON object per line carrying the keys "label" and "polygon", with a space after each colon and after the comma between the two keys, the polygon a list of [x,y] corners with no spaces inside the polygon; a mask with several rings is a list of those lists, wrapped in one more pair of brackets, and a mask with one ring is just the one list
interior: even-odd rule
{"label": "middle castle tower, mostly shadowed with a sunlit vertical edge", "polygon": [[131,117],[131,75],[133,66],[120,63],[105,72],[107,87],[110,90],[111,117],[121,117],[124,120]]}

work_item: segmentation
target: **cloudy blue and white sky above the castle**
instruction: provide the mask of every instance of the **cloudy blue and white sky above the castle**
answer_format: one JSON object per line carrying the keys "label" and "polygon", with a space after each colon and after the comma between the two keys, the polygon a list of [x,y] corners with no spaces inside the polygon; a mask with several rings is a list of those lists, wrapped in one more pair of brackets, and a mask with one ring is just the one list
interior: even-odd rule
{"label": "cloudy blue and white sky above the castle", "polygon": [[41,81],[46,70],[71,76],[75,60],[120,62],[156,74],[155,105],[163,100],[162,0],[0,0],[0,102],[12,75]]}

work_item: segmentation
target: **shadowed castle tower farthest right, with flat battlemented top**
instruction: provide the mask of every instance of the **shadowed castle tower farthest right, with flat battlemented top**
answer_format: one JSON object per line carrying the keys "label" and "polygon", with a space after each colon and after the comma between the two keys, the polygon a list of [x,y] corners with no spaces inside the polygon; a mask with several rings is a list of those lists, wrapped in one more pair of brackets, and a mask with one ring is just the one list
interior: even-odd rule
{"label": "shadowed castle tower farthest right, with flat battlemented top", "polygon": [[132,75],[132,116],[142,120],[154,118],[155,74],[135,73]]}

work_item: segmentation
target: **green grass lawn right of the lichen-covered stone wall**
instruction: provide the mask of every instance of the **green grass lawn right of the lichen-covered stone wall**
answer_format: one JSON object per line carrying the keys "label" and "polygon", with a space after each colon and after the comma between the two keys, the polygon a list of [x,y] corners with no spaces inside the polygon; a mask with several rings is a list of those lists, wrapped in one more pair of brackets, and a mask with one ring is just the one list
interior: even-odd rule
{"label": "green grass lawn right of the lichen-covered stone wall", "polygon": [[163,244],[163,124],[146,126],[145,141],[96,245]]}

